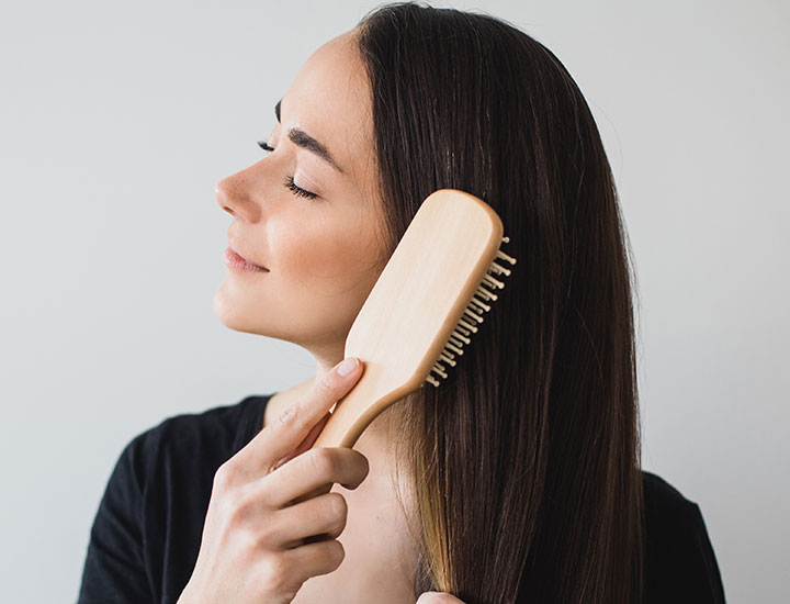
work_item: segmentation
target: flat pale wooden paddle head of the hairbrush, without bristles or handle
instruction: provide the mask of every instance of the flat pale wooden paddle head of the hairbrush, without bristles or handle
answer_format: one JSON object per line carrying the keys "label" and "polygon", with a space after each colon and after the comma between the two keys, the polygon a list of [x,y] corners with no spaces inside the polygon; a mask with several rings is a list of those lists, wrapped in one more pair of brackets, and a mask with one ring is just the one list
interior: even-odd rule
{"label": "flat pale wooden paddle head of the hairbrush, without bristles or handle", "polygon": [[363,359],[365,372],[386,366],[381,379],[388,388],[421,385],[484,280],[501,237],[499,216],[476,197],[452,189],[431,193],[357,315],[346,357]]}

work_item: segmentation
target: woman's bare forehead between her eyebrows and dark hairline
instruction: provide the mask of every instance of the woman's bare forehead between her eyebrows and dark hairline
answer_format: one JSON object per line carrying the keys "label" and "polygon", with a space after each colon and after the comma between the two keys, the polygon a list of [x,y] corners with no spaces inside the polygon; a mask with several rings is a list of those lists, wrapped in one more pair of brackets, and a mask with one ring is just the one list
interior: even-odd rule
{"label": "woman's bare forehead between her eyebrows and dark hairline", "polygon": [[358,174],[372,158],[370,83],[351,32],[318,48],[282,99],[285,128],[317,138],[346,172]]}

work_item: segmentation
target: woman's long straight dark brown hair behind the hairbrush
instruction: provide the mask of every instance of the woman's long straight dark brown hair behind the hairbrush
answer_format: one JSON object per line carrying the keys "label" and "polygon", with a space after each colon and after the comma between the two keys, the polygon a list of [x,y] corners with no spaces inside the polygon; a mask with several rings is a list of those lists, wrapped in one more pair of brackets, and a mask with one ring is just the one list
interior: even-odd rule
{"label": "woman's long straight dark brown hair behind the hairbrush", "polygon": [[387,4],[358,33],[390,251],[454,188],[496,210],[518,259],[449,378],[396,405],[415,592],[641,601],[632,273],[589,108],[545,46],[489,15]]}

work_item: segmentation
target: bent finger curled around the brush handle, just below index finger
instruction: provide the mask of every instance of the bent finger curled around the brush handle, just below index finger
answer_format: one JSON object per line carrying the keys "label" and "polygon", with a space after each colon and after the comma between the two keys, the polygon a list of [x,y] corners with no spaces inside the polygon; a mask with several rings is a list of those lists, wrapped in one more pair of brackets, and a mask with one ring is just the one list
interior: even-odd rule
{"label": "bent finger curled around the brush handle, just below index finger", "polygon": [[370,465],[361,452],[348,447],[318,447],[267,474],[260,480],[260,499],[274,508],[287,507],[295,499],[327,483],[357,489]]}

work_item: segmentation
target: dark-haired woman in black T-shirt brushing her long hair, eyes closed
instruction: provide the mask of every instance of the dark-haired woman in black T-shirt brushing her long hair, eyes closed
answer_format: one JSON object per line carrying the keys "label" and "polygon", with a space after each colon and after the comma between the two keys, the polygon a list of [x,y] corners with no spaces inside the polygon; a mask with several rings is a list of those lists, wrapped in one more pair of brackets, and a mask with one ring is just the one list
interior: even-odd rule
{"label": "dark-haired woman in black T-shirt brushing her long hair, eyes closed", "polygon": [[[723,602],[699,508],[639,469],[624,232],[556,57],[489,16],[385,5],[275,113],[269,155],[217,187],[215,310],[309,350],[316,376],[131,443],[80,602]],[[364,370],[340,365],[357,313],[440,188],[497,211],[517,270],[438,389],[353,450],[308,450]]]}

